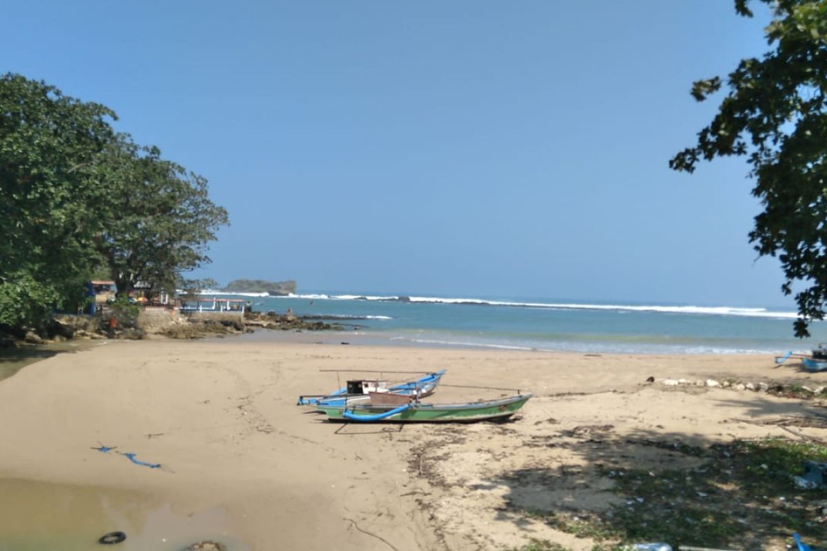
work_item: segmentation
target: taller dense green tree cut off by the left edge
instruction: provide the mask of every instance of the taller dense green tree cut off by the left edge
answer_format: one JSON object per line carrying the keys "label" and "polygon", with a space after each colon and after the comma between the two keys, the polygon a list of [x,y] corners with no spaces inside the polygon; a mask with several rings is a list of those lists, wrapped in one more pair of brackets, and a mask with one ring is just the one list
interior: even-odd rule
{"label": "taller dense green tree cut off by the left edge", "polygon": [[82,295],[114,118],[45,83],[0,76],[0,324],[36,323]]}

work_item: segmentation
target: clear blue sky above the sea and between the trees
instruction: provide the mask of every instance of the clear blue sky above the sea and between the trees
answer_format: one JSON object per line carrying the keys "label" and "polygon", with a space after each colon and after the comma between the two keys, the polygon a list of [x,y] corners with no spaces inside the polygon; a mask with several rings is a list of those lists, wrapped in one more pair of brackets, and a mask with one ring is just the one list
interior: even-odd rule
{"label": "clear blue sky above the sea and between the trees", "polygon": [[[753,2],[754,3],[754,2]],[[758,8],[758,4],[754,7]],[[747,166],[667,161],[767,50],[663,2],[7,2],[0,70],[102,102],[232,226],[199,276],[300,290],[785,305]]]}

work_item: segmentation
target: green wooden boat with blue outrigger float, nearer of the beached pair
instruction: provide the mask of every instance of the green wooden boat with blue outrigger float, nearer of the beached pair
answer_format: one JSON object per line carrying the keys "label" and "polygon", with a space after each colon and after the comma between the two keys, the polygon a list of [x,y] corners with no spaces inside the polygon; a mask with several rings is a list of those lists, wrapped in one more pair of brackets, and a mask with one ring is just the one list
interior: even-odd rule
{"label": "green wooden boat with blue outrigger float, nearer of the beached pair", "polygon": [[356,404],[351,406],[318,406],[328,420],[363,423],[472,423],[481,420],[502,420],[513,416],[533,394],[490,401],[462,404],[423,404],[410,400],[402,405]]}

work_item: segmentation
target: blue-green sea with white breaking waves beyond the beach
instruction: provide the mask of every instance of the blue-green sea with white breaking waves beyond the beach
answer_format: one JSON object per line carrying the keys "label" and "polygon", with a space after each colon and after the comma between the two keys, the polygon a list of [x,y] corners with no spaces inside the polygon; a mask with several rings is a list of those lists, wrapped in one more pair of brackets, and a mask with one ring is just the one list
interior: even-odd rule
{"label": "blue-green sea with white breaking waves beyond the beach", "polygon": [[[792,309],[543,298],[421,297],[308,292],[247,293],[256,311],[320,316],[388,344],[630,354],[763,354],[806,351],[827,341],[827,325],[794,337]],[[265,337],[263,337],[265,338]]]}

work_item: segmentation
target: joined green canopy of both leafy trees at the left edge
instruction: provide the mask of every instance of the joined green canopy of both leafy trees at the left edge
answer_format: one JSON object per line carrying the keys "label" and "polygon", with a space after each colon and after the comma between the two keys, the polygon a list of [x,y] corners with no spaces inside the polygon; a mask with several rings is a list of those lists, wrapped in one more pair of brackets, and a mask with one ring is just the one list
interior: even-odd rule
{"label": "joined green canopy of both leafy trees at the left edge", "polygon": [[117,134],[117,116],[49,84],[0,75],[0,325],[76,304],[102,268],[123,295],[173,287],[227,224],[207,180]]}

